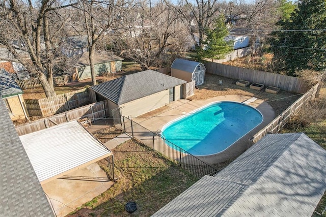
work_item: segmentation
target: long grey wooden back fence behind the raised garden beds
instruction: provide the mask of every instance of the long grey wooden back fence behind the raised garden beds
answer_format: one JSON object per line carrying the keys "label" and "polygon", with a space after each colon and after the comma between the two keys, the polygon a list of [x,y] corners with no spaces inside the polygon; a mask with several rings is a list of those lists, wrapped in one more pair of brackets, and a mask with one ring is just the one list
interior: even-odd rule
{"label": "long grey wooden back fence behind the raised garden beds", "polygon": [[275,86],[289,92],[303,94],[308,90],[305,81],[300,78],[287,75],[280,75],[270,72],[263,72],[252,69],[244,69],[224,64],[206,62],[206,71],[215,75],[228,78],[245,80],[265,84],[265,86]]}

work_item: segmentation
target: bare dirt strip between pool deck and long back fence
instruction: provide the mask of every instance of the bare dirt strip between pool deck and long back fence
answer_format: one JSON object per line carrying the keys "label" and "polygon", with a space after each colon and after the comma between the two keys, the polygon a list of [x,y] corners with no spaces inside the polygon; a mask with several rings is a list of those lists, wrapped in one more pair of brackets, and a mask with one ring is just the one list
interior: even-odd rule
{"label": "bare dirt strip between pool deck and long back fence", "polygon": [[[220,84],[220,80],[222,80],[222,84]],[[251,96],[267,102],[273,107],[275,114],[279,115],[302,96],[302,94],[292,94],[284,90],[281,90],[278,94],[269,94],[265,92],[265,88],[262,90],[255,90],[249,87],[241,87],[235,84],[236,81],[238,80],[206,73],[205,83],[198,86],[198,89],[195,89],[195,95],[188,99],[206,100],[212,97],[225,95]]]}

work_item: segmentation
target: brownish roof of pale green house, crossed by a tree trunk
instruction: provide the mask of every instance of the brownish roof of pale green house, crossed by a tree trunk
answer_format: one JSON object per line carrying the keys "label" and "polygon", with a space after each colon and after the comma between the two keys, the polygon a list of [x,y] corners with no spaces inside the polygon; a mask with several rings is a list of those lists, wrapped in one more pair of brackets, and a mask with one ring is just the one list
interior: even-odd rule
{"label": "brownish roof of pale green house, crossed by a tree trunk", "polygon": [[[85,52],[83,54],[76,55],[75,57],[77,59],[77,65],[78,66],[89,66],[90,60],[89,60],[89,52]],[[93,57],[94,64],[101,64],[101,63],[107,63],[111,61],[118,61],[123,60],[120,56],[114,55],[113,53],[107,52],[107,51],[96,51],[94,52]]]}

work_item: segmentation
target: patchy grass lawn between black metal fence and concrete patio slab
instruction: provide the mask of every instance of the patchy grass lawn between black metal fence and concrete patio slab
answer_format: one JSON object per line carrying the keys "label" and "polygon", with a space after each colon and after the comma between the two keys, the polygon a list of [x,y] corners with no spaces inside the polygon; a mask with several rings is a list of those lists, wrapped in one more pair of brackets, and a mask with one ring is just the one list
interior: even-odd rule
{"label": "patchy grass lawn between black metal fence and concrete patio slab", "polygon": [[[189,188],[197,179],[136,140],[113,149],[117,182],[71,216],[129,216],[124,205],[135,201],[132,215],[149,216]],[[107,162],[99,165],[107,170]]]}

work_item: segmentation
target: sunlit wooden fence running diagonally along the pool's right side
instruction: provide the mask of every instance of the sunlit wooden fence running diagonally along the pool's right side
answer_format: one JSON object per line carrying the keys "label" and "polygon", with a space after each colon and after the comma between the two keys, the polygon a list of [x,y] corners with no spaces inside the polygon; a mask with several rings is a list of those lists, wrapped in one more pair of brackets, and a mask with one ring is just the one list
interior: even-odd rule
{"label": "sunlit wooden fence running diagonally along the pool's right side", "polygon": [[277,133],[278,131],[280,131],[290,120],[290,118],[293,117],[293,115],[295,115],[303,105],[315,98],[319,89],[319,85],[320,83],[313,86],[309,91],[306,92],[306,94],[304,94],[301,98],[295,101],[284,112],[282,112],[282,114],[277,116],[265,128],[256,133],[253,136],[252,141],[256,143],[261,138],[263,138],[268,132]]}

